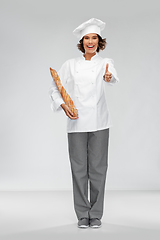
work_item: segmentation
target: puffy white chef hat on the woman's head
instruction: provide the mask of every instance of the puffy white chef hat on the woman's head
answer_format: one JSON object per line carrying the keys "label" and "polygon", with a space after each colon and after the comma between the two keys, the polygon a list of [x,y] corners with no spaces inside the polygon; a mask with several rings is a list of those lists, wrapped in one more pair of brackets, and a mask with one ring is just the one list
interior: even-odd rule
{"label": "puffy white chef hat on the woman's head", "polygon": [[105,28],[105,22],[97,18],[91,18],[88,21],[79,25],[74,31],[73,34],[81,40],[83,36],[89,33],[96,33],[101,36],[101,31]]}

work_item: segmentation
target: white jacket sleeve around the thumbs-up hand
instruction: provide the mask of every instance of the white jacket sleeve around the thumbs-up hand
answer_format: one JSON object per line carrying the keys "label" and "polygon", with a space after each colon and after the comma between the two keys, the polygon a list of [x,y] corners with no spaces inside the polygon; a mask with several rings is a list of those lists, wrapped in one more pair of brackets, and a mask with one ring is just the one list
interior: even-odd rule
{"label": "white jacket sleeve around the thumbs-up hand", "polygon": [[119,78],[118,78],[118,76],[117,76],[117,71],[116,71],[116,69],[114,68],[114,61],[113,61],[113,59],[110,59],[110,58],[106,58],[105,59],[105,61],[104,61],[104,66],[103,66],[103,68],[104,68],[104,74],[105,74],[105,70],[106,70],[106,64],[109,64],[109,66],[108,66],[108,71],[110,72],[110,73],[112,73],[112,78],[111,78],[111,80],[110,80],[110,82],[106,82],[105,80],[105,82],[107,83],[107,84],[109,84],[109,85],[114,85],[115,83],[117,83],[117,82],[119,82]]}

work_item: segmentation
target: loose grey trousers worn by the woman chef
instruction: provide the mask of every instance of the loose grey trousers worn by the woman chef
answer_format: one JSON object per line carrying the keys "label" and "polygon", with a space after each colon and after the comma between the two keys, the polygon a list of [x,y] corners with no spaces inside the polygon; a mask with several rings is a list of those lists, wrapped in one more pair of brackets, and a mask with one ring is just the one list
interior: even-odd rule
{"label": "loose grey trousers worn by the woman chef", "polygon": [[68,133],[74,209],[78,219],[102,218],[108,167],[108,141],[109,129]]}

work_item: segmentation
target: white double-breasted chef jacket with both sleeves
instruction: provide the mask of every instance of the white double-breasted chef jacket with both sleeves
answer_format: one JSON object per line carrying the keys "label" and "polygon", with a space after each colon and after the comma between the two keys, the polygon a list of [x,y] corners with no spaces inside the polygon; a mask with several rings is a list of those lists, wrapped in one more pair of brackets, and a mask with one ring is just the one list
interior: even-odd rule
{"label": "white double-breasted chef jacket with both sleeves", "polygon": [[[110,82],[103,79],[106,64],[112,73]],[[67,132],[91,132],[111,127],[110,114],[107,108],[105,85],[119,81],[113,60],[102,58],[96,53],[91,60],[84,56],[67,60],[58,71],[61,83],[66,89],[78,110],[79,118],[67,117]],[[49,89],[51,109],[60,111],[64,103],[54,81]]]}

